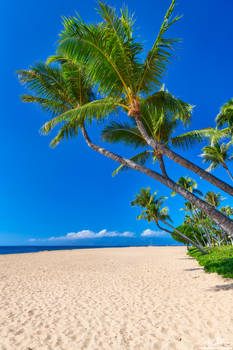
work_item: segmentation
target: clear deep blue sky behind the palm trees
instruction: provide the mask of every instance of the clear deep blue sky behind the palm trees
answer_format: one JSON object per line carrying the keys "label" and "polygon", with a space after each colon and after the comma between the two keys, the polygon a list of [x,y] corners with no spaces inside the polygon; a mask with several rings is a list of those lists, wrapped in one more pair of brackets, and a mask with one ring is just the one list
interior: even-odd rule
{"label": "clear deep blue sky behind the palm trees", "polygon": [[[108,3],[120,7],[123,2],[110,0]],[[170,2],[128,0],[124,3],[135,12],[138,34],[149,49]],[[73,15],[77,10],[88,22],[97,21],[96,2],[24,0],[5,1],[0,6],[1,32],[4,33],[0,57],[3,77],[0,94],[0,245],[96,244],[97,240],[105,244],[109,239],[112,241],[111,233],[115,234],[116,244],[125,240],[134,244],[147,229],[155,232],[150,243],[156,243],[158,230],[146,222],[136,221],[139,212],[131,208],[129,202],[142,187],[150,186],[167,196],[170,191],[136,172],[112,178],[116,164],[88,149],[81,138],[50,149],[50,138],[42,137],[38,132],[48,116],[37,106],[23,104],[19,99],[25,91],[14,72],[54,53],[62,28],[62,15]],[[232,98],[232,12],[231,0],[179,1],[177,13],[184,17],[170,35],[181,37],[183,42],[164,82],[176,97],[196,106],[193,129],[213,126],[220,106]],[[99,141],[97,130],[93,129],[91,134]],[[129,154],[123,146],[112,149]],[[184,153],[200,164],[198,154],[199,146],[192,154]],[[169,161],[166,165],[175,180],[191,175]],[[217,170],[215,174],[228,181],[224,171]],[[201,190],[213,189],[198,177],[193,178]],[[179,208],[182,203],[179,196],[168,199],[175,224],[181,222]],[[228,199],[224,204],[227,203]],[[88,238],[77,239],[77,233],[83,230],[88,232]],[[103,230],[106,230],[105,234]],[[100,232],[101,237],[93,238],[93,234]],[[125,232],[130,232],[132,237],[122,236]],[[76,236],[69,239],[69,233]],[[51,237],[65,239],[48,240]],[[35,241],[29,241],[31,238]],[[167,239],[166,242],[170,241]]]}

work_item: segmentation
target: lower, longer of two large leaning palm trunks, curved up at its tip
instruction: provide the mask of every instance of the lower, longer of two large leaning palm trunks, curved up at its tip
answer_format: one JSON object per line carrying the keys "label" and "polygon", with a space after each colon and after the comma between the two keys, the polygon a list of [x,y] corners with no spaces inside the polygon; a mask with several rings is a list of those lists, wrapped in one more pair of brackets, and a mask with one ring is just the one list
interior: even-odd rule
{"label": "lower, longer of two large leaning palm trunks, curved up at its tip", "polygon": [[115,160],[118,163],[124,164],[131,169],[138,170],[138,171],[142,172],[143,174],[150,176],[152,179],[162,183],[163,185],[170,188],[172,191],[179,193],[181,196],[183,196],[189,202],[194,204],[197,208],[202,210],[207,216],[209,216],[219,226],[221,226],[223,228],[223,230],[225,230],[230,236],[233,237],[233,221],[230,220],[224,214],[222,214],[220,211],[216,210],[214,207],[212,207],[211,205],[209,205],[208,203],[206,203],[202,199],[198,198],[193,193],[187,191],[185,188],[179,186],[176,182],[174,182],[170,178],[165,178],[164,176],[160,175],[159,173],[157,173],[154,170],[151,170],[149,168],[146,168],[145,166],[139,165],[130,159],[126,159],[124,157],[121,157],[116,153],[110,152],[107,149],[94,144],[90,140],[84,125],[81,126],[81,131],[82,131],[82,134],[83,134],[83,137],[84,137],[86,143],[88,144],[88,146],[90,148],[92,148],[96,152],[99,152],[112,160]]}

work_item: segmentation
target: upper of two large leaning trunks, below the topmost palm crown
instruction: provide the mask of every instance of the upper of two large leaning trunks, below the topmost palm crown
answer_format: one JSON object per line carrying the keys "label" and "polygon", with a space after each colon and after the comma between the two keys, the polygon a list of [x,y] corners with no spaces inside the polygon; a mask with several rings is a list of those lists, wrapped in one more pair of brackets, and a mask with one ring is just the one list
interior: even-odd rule
{"label": "upper of two large leaning trunks, below the topmost palm crown", "polygon": [[144,137],[145,141],[147,142],[147,144],[149,146],[151,146],[155,151],[159,151],[162,154],[166,155],[169,159],[173,160],[175,163],[183,166],[186,169],[189,169],[191,171],[193,171],[194,173],[196,173],[197,175],[199,175],[200,177],[202,177],[203,179],[207,180],[208,182],[210,182],[211,184],[213,184],[214,186],[220,188],[221,190],[223,190],[224,192],[230,194],[231,196],[233,196],[233,187],[228,185],[226,182],[218,179],[216,176],[208,173],[207,171],[205,171],[204,169],[200,168],[198,165],[190,162],[189,160],[183,158],[182,156],[180,156],[179,154],[175,153],[174,151],[170,150],[169,148],[156,143],[155,140],[153,140],[146,132],[144,125],[142,123],[142,117],[141,115],[134,115],[134,119],[137,123],[137,127],[139,129],[139,131],[141,132],[142,136]]}

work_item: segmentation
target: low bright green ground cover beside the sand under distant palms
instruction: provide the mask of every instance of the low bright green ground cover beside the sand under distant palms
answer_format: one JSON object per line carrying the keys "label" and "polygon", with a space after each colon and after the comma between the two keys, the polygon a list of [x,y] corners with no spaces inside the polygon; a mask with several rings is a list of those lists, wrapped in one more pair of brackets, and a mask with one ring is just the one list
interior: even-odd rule
{"label": "low bright green ground cover beside the sand under distant palms", "polygon": [[188,255],[197,259],[205,271],[216,272],[225,278],[233,278],[233,247],[214,247],[208,250],[209,254],[202,255],[196,248],[191,248]]}

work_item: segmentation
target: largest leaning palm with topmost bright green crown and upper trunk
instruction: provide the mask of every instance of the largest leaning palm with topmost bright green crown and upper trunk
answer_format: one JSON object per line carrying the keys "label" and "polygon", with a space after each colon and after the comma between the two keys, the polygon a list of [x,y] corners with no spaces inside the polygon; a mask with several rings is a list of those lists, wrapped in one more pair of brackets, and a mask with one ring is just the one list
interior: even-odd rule
{"label": "largest leaning palm with topmost bright green crown and upper trunk", "polygon": [[[143,138],[157,154],[167,156],[233,195],[233,187],[151,138],[142,122],[142,106],[145,103],[155,105],[162,111],[169,108],[183,120],[190,115],[191,107],[187,103],[174,100],[160,91],[161,80],[178,42],[177,39],[165,36],[180,18],[173,17],[175,2],[172,0],[158,36],[144,61],[140,59],[142,44],[136,41],[134,35],[133,17],[127,10],[122,10],[118,16],[114,9],[99,2],[100,24],[87,25],[79,16],[64,18],[64,30],[57,54],[50,57],[49,62],[62,61],[65,57],[72,62],[85,64],[92,82],[98,86],[100,93],[107,96],[98,104],[98,108],[95,106],[101,117],[121,108],[134,118]],[[89,118],[94,117],[92,107],[90,105],[90,108],[85,108]],[[62,118],[78,118],[82,112],[77,108]]]}

